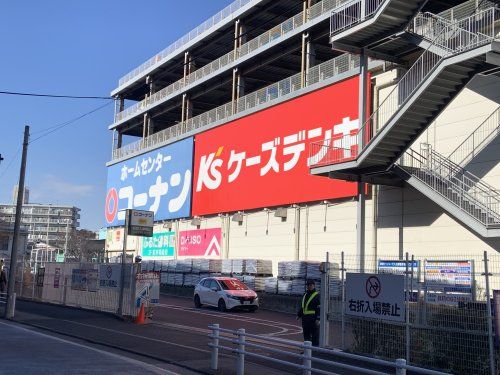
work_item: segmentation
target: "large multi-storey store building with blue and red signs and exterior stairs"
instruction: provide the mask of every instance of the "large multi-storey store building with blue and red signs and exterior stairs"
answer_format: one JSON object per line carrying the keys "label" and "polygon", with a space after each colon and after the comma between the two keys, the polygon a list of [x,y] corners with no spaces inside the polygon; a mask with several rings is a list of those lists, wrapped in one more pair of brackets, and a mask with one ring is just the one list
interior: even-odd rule
{"label": "large multi-storey store building with blue and red signs and exterior stairs", "polygon": [[129,237],[144,259],[496,252],[499,19],[491,1],[236,1],[113,90],[107,250],[137,208],[158,222]]}

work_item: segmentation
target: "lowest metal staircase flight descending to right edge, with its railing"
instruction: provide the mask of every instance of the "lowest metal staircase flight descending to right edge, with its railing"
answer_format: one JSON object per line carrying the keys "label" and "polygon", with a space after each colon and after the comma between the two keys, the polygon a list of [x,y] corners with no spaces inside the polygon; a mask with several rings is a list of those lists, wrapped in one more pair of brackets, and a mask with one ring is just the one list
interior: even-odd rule
{"label": "lowest metal staircase flight descending to right edge, with its railing", "polygon": [[430,145],[408,150],[392,169],[479,235],[500,236],[500,192]]}

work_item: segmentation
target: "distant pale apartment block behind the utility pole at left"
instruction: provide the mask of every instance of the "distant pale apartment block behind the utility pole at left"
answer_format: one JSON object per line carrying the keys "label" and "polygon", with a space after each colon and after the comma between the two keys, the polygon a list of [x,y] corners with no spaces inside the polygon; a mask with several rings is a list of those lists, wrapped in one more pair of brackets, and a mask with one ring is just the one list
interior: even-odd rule
{"label": "distant pale apartment block behind the utility pole at left", "polygon": [[[14,188],[13,196],[17,197],[17,187]],[[71,233],[80,225],[78,221],[80,209],[72,206],[29,203],[27,190],[24,199],[21,225],[28,233],[28,241],[43,242],[51,249],[65,250]],[[15,204],[0,204],[1,221],[13,225],[15,217]]]}

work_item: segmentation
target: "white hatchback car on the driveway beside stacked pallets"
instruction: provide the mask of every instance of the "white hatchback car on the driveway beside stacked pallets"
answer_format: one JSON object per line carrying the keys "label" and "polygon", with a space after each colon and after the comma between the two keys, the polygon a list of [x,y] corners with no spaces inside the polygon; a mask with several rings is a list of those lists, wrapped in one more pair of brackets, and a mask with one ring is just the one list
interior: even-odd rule
{"label": "white hatchback car on the driveway beside stacked pallets", "polygon": [[207,277],[194,288],[194,305],[215,306],[220,311],[245,309],[257,311],[259,298],[240,280],[233,277]]}

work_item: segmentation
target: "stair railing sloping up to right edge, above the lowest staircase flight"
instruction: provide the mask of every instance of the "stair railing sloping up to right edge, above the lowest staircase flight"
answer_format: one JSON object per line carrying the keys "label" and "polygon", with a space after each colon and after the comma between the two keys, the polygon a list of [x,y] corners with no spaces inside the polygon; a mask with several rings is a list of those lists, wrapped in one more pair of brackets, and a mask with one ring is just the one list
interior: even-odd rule
{"label": "stair railing sloping up to right edge, above the lowest staircase flight", "polygon": [[495,109],[471,135],[458,145],[448,159],[463,167],[498,135],[500,135],[500,107]]}

